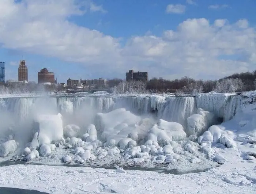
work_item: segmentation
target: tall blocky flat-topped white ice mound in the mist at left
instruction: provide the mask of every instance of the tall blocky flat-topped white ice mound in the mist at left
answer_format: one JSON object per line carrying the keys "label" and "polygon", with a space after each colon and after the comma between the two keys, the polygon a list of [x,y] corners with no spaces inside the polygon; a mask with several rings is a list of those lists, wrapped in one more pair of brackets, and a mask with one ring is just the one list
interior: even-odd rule
{"label": "tall blocky flat-topped white ice mound in the mist at left", "polygon": [[35,121],[38,126],[38,143],[50,144],[54,141],[64,141],[62,116],[57,115],[39,115]]}

